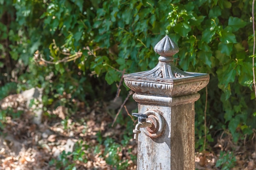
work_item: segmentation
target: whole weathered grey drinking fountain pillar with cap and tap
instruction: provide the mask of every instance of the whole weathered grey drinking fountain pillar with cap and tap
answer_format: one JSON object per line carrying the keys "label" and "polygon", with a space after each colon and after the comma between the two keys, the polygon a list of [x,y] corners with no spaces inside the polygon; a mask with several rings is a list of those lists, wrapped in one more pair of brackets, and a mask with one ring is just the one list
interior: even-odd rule
{"label": "whole weathered grey drinking fountain pillar with cap and tap", "polygon": [[137,170],[194,170],[194,103],[200,98],[198,91],[209,83],[209,74],[178,69],[173,55],[179,48],[168,36],[154,50],[160,55],[155,68],[124,75],[124,82],[135,92],[139,114],[148,116],[148,123],[138,123],[134,130]]}

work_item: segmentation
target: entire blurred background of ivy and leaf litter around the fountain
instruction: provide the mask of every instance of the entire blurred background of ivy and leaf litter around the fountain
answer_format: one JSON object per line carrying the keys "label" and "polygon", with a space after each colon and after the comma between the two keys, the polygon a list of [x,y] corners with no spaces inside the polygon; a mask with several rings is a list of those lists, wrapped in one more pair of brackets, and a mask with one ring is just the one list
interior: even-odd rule
{"label": "entire blurred background of ivy and leaf litter around the fountain", "polygon": [[[197,169],[256,168],[253,0],[0,0],[0,165],[132,170],[137,103],[122,75],[165,35],[195,102]],[[1,168],[0,168],[1,169]]]}

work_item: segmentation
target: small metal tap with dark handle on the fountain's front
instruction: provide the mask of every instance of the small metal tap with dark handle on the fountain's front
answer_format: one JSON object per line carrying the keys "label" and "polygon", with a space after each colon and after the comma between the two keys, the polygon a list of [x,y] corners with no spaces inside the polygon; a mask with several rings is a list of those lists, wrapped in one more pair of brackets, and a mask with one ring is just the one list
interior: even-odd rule
{"label": "small metal tap with dark handle on the fountain's front", "polygon": [[132,116],[138,117],[139,122],[135,126],[135,129],[132,131],[133,133],[135,133],[133,139],[138,139],[138,135],[141,132],[139,128],[151,128],[153,123],[151,121],[146,121],[146,119],[148,118],[148,115],[146,114],[132,113]]}

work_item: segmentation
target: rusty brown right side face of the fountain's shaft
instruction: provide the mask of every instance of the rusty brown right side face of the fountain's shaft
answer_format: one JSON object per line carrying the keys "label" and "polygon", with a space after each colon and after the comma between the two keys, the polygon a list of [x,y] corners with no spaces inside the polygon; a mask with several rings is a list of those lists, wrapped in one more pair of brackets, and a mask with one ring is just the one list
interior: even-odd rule
{"label": "rusty brown right side face of the fountain's shaft", "polygon": [[171,169],[195,169],[194,103],[171,108]]}

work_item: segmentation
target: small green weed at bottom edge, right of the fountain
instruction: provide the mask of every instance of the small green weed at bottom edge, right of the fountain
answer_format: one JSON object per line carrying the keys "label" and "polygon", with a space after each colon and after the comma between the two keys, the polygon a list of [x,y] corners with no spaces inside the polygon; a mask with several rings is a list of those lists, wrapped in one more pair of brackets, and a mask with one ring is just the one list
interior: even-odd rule
{"label": "small green weed at bottom edge, right of the fountain", "polygon": [[220,157],[216,162],[216,167],[220,167],[221,170],[230,170],[236,165],[236,157],[233,152],[220,151]]}

